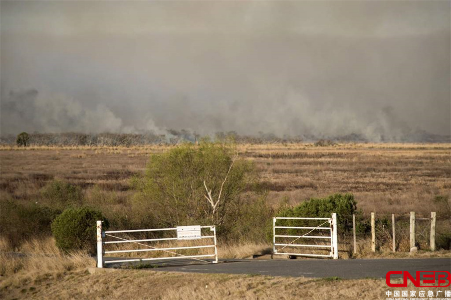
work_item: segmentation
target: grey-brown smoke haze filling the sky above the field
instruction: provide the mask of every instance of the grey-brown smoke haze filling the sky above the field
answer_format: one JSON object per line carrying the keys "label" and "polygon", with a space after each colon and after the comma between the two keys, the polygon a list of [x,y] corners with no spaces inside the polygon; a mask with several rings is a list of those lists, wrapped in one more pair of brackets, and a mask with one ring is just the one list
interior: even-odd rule
{"label": "grey-brown smoke haze filling the sky above the field", "polygon": [[0,9],[2,134],[451,133],[448,1]]}

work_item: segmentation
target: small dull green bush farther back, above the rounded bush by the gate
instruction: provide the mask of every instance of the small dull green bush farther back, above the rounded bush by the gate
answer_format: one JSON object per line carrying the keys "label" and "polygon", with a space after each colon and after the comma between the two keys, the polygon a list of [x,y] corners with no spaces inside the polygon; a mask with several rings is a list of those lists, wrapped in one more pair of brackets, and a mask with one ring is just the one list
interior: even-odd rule
{"label": "small dull green bush farther back, above the rounded bush by the gate", "polygon": [[80,205],[83,200],[82,189],[70,183],[54,180],[41,191],[44,201],[50,205],[65,209],[71,205]]}

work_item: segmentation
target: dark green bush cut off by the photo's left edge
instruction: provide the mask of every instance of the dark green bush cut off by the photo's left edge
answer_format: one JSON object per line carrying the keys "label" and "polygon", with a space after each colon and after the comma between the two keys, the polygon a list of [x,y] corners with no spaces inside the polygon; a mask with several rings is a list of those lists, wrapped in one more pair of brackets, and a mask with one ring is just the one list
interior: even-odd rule
{"label": "dark green bush cut off by the photo's left edge", "polygon": [[0,234],[18,246],[27,238],[36,238],[51,233],[50,224],[61,211],[33,203],[22,203],[13,199],[0,204]]}

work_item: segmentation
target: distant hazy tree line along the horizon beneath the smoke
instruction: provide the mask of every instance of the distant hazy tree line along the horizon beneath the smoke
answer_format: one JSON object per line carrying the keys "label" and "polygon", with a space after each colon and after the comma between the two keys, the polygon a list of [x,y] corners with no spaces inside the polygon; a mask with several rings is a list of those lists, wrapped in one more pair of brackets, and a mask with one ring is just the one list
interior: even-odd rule
{"label": "distant hazy tree line along the horizon beneath the smoke", "polygon": [[[316,142],[318,146],[332,145],[335,142],[370,142],[362,134],[351,133],[343,136],[315,136],[303,134],[297,136],[278,136],[274,133],[259,132],[256,135],[239,134],[236,131],[220,131],[214,135],[201,136],[195,131],[168,129],[165,134],[146,131],[143,133],[40,133],[22,132],[18,135],[0,136],[0,145],[19,146],[137,146],[146,144],[176,145],[183,142],[196,142],[201,139],[216,141],[234,140],[236,143],[299,143]],[[431,134],[424,131],[406,136],[399,140],[381,137],[378,142],[451,142],[451,136]]]}

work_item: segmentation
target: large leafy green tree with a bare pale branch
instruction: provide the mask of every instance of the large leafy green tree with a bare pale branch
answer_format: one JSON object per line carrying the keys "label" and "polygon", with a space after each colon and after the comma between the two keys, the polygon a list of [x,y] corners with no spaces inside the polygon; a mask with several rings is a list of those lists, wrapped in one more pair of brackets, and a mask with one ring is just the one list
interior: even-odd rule
{"label": "large leafy green tree with a bare pale branch", "polygon": [[147,203],[161,225],[203,222],[227,230],[243,204],[243,192],[255,183],[253,167],[233,144],[182,144],[151,156],[145,176],[134,181],[140,192],[135,201]]}

